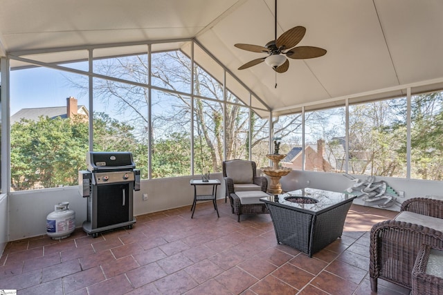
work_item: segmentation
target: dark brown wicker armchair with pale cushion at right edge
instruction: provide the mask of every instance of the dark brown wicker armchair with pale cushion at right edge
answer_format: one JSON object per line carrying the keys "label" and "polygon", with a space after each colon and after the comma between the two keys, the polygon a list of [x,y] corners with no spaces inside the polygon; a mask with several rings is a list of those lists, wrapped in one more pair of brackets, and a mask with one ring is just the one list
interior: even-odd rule
{"label": "dark brown wicker armchair with pale cushion at right edge", "polygon": [[443,200],[411,198],[394,220],[374,225],[370,232],[370,283],[377,279],[411,289],[412,272],[422,244],[443,247]]}

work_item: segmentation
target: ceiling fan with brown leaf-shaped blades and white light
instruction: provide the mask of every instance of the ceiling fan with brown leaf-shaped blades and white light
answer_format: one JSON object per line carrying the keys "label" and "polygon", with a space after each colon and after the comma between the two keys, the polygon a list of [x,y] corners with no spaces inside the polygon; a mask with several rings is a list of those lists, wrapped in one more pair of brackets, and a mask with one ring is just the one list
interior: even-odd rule
{"label": "ceiling fan with brown leaf-shaped blades and white light", "polygon": [[243,50],[252,51],[253,53],[267,53],[267,57],[260,57],[248,61],[239,70],[250,68],[263,61],[271,66],[276,73],[284,73],[289,69],[289,60],[291,59],[311,59],[321,57],[326,54],[326,50],[314,46],[297,46],[305,36],[306,28],[296,26],[284,32],[277,38],[277,0],[275,0],[275,39],[269,41],[265,46],[251,44],[235,44],[234,46]]}

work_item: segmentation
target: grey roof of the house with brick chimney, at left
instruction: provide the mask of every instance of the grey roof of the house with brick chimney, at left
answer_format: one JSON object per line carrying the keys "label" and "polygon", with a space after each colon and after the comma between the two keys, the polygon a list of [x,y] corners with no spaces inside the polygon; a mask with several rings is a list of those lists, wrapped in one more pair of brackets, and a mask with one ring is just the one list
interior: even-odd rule
{"label": "grey roof of the house with brick chimney, at left", "polygon": [[[86,111],[86,112],[85,112]],[[87,114],[87,110],[85,106],[78,106],[78,113]],[[10,118],[10,123],[14,124],[15,122],[19,122],[21,119],[26,120],[39,120],[40,116],[48,116],[51,119],[56,117],[66,118],[66,106],[53,106],[48,108],[22,108],[17,111]]]}

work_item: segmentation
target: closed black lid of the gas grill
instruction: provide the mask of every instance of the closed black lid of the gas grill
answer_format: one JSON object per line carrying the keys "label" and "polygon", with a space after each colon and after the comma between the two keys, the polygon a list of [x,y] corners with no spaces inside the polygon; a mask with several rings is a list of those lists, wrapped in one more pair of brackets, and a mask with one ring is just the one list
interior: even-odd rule
{"label": "closed black lid of the gas grill", "polygon": [[86,154],[86,162],[91,172],[127,170],[136,167],[132,153],[128,151],[89,151]]}

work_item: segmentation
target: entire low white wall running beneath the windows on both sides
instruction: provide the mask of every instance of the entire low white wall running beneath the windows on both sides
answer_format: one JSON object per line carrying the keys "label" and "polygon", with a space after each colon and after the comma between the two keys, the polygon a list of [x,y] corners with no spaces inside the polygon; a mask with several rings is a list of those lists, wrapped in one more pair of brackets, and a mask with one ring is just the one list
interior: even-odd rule
{"label": "entire low white wall running beneath the windows on both sides", "polygon": [[[257,171],[258,172],[258,171]],[[217,198],[224,198],[225,188],[221,173],[212,174],[212,178],[221,180],[217,189]],[[198,175],[181,178],[162,178],[156,180],[142,180],[141,190],[134,191],[134,216],[152,213],[167,209],[173,209],[192,204],[194,189],[189,180],[199,178]],[[364,178],[359,176],[359,178]],[[399,178],[376,178],[377,181],[385,180],[396,191],[405,191],[406,198],[417,196],[443,196],[443,182],[427,180],[404,180]],[[309,184],[308,184],[309,181]],[[303,187],[314,187],[331,191],[345,191],[353,182],[345,178],[341,173],[321,173],[309,171],[292,171],[284,176],[280,183],[282,189],[291,191]],[[204,189],[210,187],[198,187],[199,193],[206,193]],[[147,193],[148,200],[143,201],[143,193]],[[402,202],[406,198],[397,198]],[[54,210],[58,202],[68,201],[70,208],[75,211],[75,225],[82,226],[87,219],[87,198],[82,198],[78,193],[78,187],[65,187],[56,189],[44,189],[37,191],[19,191],[11,193],[9,197],[9,237],[8,240],[19,240],[32,236],[46,234],[46,216]],[[363,204],[357,198],[354,203]],[[399,210],[399,206],[388,208]],[[0,198],[0,238],[6,236],[5,221],[7,211],[6,198]],[[1,246],[0,240],[0,246]],[[3,238],[4,244],[4,238]],[[2,248],[0,248],[2,249]]]}

